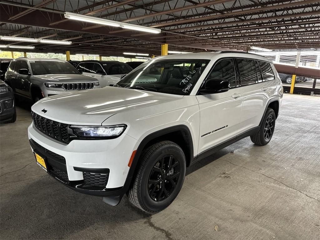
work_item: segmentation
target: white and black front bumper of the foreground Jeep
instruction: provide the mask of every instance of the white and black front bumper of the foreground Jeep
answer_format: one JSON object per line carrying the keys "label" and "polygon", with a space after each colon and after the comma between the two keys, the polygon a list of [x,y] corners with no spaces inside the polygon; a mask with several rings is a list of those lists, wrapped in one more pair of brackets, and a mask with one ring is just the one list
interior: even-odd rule
{"label": "white and black front bumper of the foreground Jeep", "polygon": [[[63,144],[44,135],[33,123],[28,127],[28,137],[32,150],[45,158],[48,173],[67,187],[94,196],[122,197],[128,190],[128,162],[138,145],[132,137],[122,134],[116,139],[72,140]],[[88,184],[89,173],[107,176],[106,185]]]}

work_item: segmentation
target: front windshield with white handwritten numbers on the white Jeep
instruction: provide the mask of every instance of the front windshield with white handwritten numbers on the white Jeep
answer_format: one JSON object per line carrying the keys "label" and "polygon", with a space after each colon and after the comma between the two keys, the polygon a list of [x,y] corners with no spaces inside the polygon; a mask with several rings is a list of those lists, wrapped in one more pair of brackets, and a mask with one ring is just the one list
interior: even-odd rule
{"label": "front windshield with white handwritten numbers on the white Jeep", "polygon": [[121,79],[116,86],[189,95],[209,60],[150,60]]}

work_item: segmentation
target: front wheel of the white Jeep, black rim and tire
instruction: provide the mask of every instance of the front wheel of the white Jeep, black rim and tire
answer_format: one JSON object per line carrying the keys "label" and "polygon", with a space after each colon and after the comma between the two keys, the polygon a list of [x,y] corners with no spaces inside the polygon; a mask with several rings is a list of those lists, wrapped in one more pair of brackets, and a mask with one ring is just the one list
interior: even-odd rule
{"label": "front wheel of the white Jeep, black rim and tire", "polygon": [[186,175],[186,158],[179,145],[161,141],[142,152],[137,168],[127,192],[129,201],[145,212],[159,212],[178,196]]}

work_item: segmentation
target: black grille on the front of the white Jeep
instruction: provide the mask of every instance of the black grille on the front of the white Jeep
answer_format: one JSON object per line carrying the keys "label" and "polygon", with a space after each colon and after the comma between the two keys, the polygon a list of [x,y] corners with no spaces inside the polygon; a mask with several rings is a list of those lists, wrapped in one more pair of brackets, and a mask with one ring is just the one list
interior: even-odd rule
{"label": "black grille on the front of the white Jeep", "polygon": [[58,123],[32,112],[33,123],[44,134],[56,140],[68,143],[68,124]]}

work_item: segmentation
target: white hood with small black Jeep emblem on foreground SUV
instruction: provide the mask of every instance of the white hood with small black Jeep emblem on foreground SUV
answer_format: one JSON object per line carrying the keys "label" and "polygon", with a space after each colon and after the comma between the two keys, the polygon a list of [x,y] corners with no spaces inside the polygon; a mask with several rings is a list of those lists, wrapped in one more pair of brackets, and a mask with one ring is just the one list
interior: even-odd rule
{"label": "white hood with small black Jeep emblem on foreground SUV", "polygon": [[[182,97],[137,89],[104,87],[50,96],[36,102],[31,109],[61,123],[101,125],[108,117],[117,113]],[[43,109],[46,110],[45,113],[42,112]]]}

